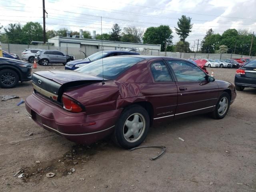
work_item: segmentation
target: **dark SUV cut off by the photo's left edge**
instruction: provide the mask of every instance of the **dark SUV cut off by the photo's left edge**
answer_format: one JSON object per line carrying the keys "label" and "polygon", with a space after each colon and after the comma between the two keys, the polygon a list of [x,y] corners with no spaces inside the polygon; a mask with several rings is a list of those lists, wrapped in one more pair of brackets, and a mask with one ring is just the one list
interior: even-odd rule
{"label": "dark SUV cut off by the photo's left edge", "polygon": [[0,87],[13,88],[19,81],[30,80],[30,64],[16,59],[0,58]]}

